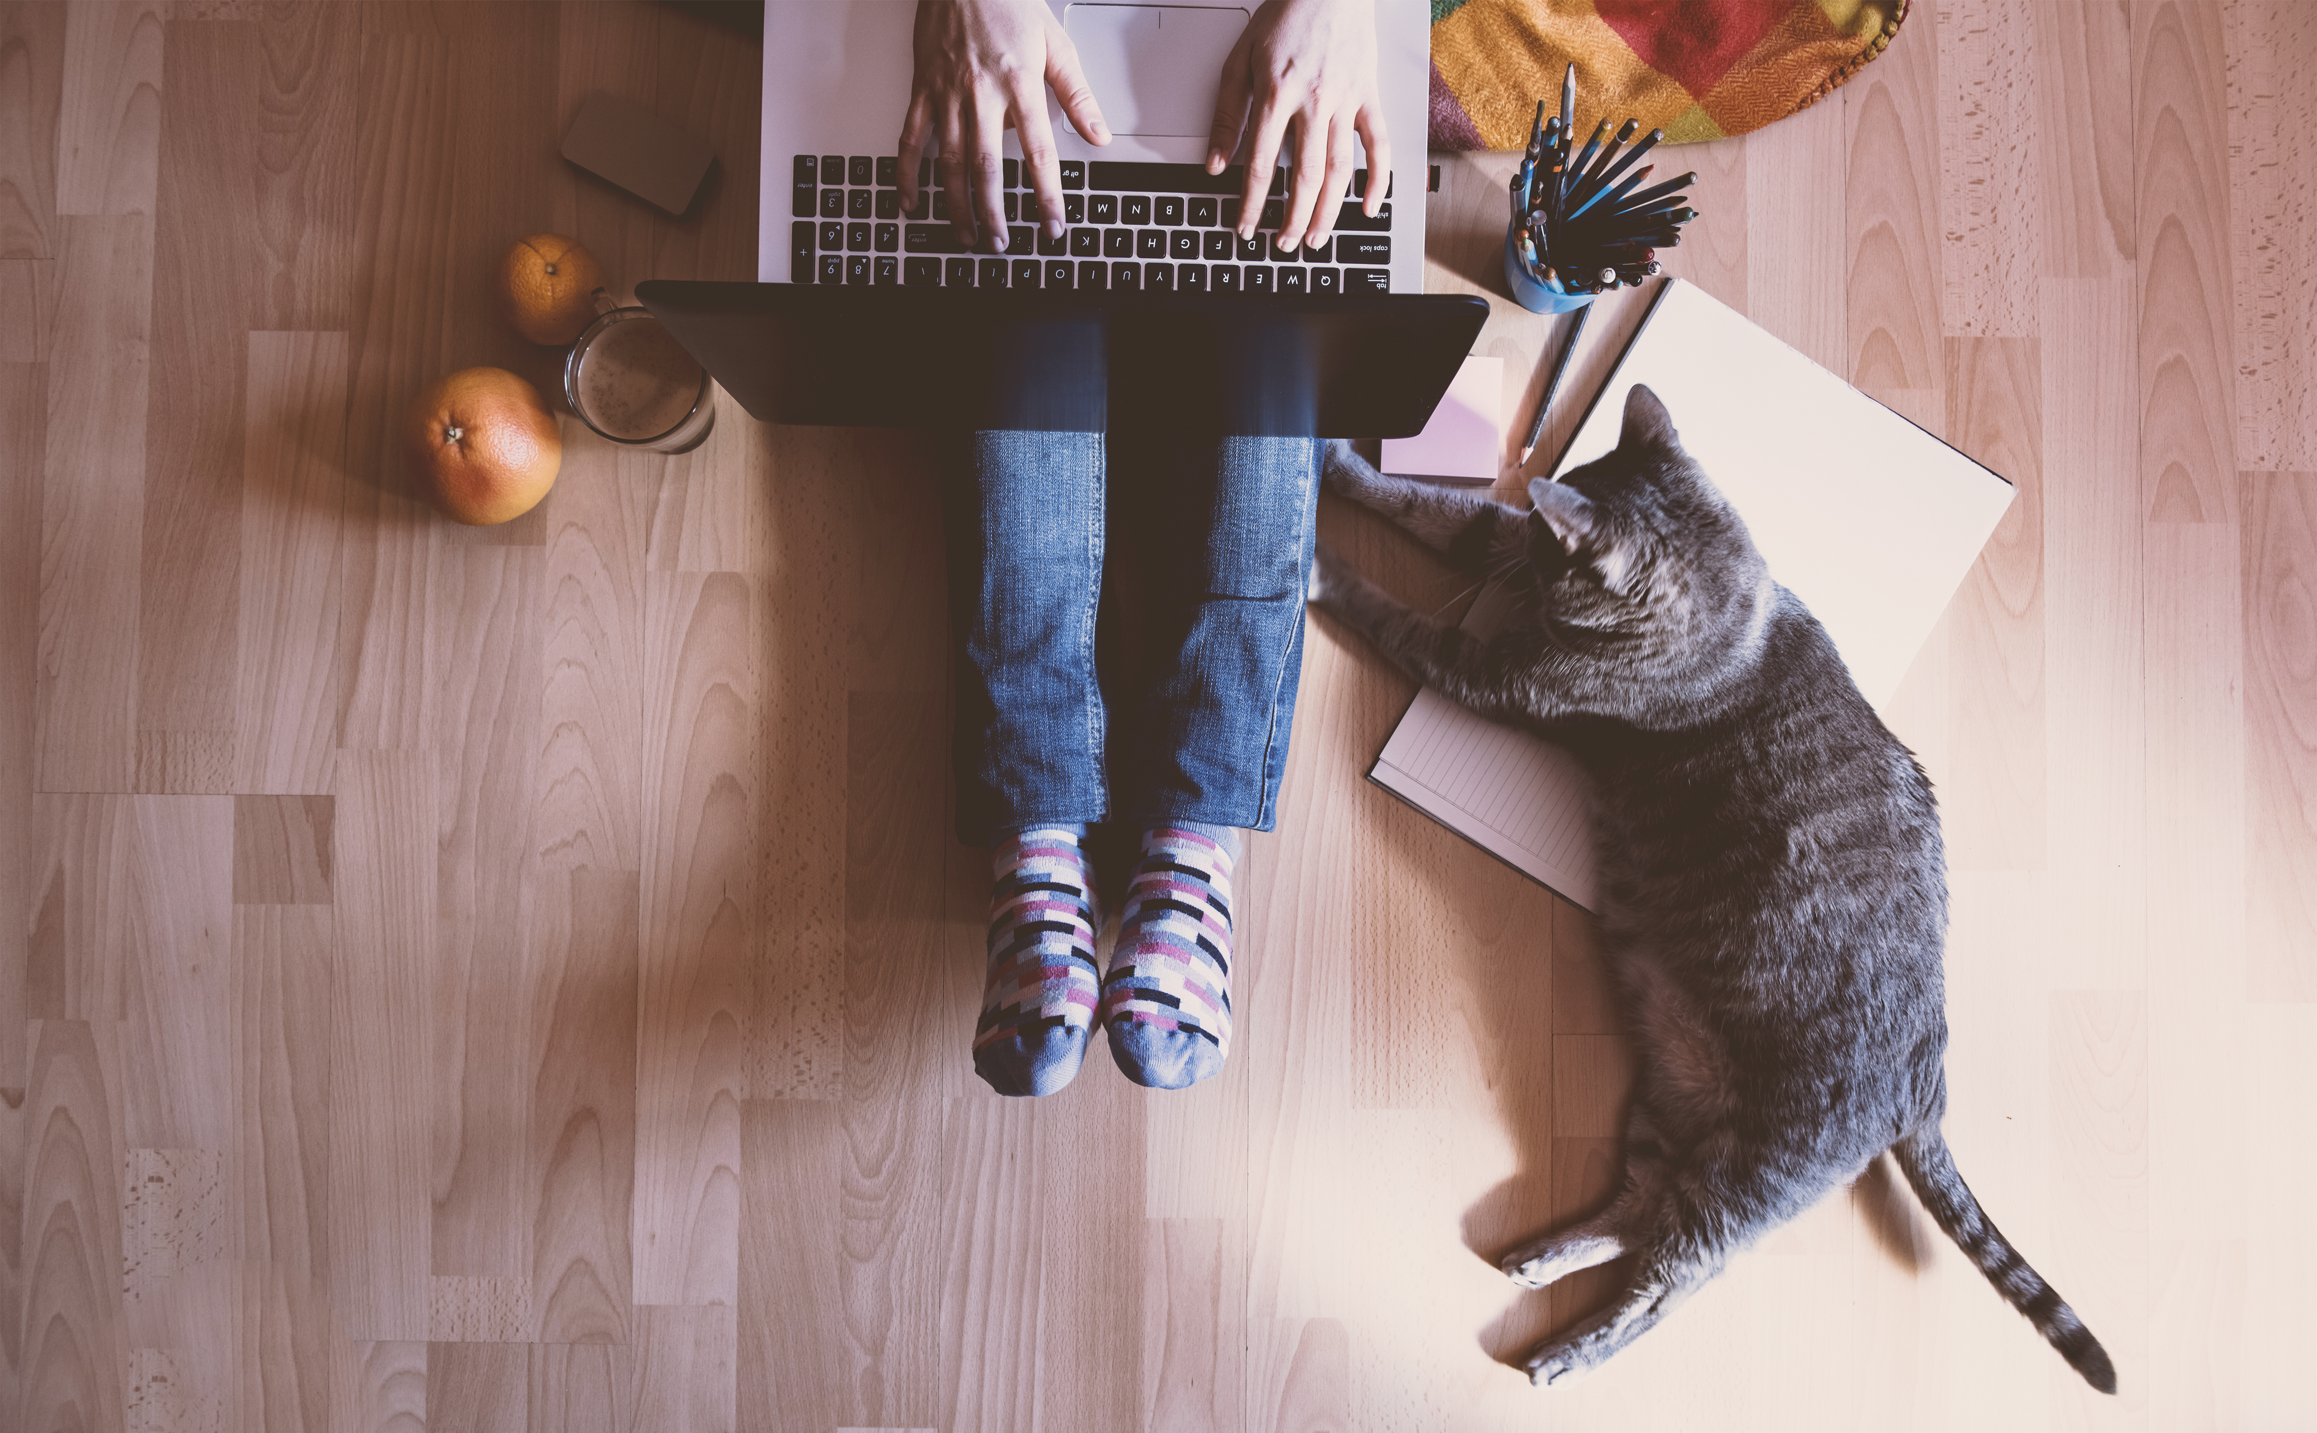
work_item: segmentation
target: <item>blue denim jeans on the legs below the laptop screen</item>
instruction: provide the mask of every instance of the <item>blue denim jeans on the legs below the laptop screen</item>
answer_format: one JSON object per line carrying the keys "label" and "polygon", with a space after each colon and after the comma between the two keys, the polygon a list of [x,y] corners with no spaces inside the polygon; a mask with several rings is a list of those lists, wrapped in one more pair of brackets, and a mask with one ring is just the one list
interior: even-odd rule
{"label": "blue denim jeans on the legs below the laptop screen", "polygon": [[1311,438],[966,442],[945,484],[962,840],[1272,829],[1318,461]]}

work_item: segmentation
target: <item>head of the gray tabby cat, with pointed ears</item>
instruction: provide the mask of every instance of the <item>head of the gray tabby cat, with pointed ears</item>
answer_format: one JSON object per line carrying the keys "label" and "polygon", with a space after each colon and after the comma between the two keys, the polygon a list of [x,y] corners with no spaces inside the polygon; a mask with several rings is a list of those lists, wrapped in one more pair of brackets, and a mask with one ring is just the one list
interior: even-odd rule
{"label": "head of the gray tabby cat, with pointed ears", "polygon": [[1710,641],[1752,618],[1761,553],[1647,387],[1627,391],[1615,449],[1532,482],[1529,500],[1529,565],[1557,623]]}

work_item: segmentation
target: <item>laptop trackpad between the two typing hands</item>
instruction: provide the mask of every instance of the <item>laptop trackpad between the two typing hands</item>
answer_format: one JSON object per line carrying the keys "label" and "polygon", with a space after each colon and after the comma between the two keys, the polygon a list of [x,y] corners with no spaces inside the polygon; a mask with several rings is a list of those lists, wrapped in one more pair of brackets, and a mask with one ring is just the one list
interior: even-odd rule
{"label": "laptop trackpad between the two typing hands", "polygon": [[1247,12],[1193,5],[1070,5],[1061,28],[1077,46],[1112,134],[1205,139],[1223,58]]}

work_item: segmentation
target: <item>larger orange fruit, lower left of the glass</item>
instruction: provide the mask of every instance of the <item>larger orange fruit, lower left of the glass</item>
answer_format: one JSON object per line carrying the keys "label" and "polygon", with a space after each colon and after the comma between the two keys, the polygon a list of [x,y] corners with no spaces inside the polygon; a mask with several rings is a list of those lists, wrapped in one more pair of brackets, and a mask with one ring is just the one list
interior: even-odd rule
{"label": "larger orange fruit, lower left of the glass", "polygon": [[470,528],[538,507],[563,468],[563,433],[540,391],[505,368],[461,368],[417,396],[403,447],[426,498]]}

